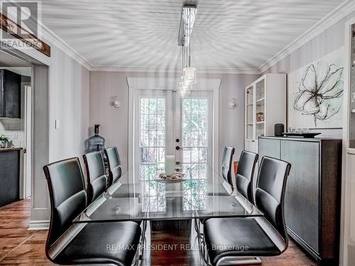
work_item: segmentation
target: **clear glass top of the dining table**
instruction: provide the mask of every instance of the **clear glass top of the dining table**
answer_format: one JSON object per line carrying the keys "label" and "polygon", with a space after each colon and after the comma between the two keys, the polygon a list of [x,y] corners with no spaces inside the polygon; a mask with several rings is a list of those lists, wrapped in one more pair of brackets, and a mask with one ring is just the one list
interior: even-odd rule
{"label": "clear glass top of the dining table", "polygon": [[[160,179],[159,170],[142,174],[135,167],[95,199],[74,223],[164,221],[193,218],[263,216],[212,168],[187,170],[180,180]],[[141,169],[139,167],[138,169]],[[135,172],[136,170],[136,172]],[[138,177],[138,178],[136,178]],[[142,178],[143,177],[143,178]],[[123,183],[125,180],[129,183]]]}

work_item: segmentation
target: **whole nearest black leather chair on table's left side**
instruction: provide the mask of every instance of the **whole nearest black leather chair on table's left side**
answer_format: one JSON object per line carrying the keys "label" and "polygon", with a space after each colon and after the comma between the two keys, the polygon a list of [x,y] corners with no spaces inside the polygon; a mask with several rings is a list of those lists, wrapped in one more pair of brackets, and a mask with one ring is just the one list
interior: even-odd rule
{"label": "whole nearest black leather chair on table's left side", "polygon": [[[45,254],[62,265],[131,265],[141,228],[133,221],[72,223],[87,206],[79,158],[43,167],[50,195],[50,229]],[[133,248],[110,250],[107,245]]]}

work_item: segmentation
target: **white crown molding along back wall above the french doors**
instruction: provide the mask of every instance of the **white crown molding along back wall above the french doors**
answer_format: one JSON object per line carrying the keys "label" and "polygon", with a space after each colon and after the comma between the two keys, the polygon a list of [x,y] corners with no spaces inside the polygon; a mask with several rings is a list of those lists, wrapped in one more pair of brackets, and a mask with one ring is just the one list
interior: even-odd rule
{"label": "white crown molding along back wall above the french doors", "polygon": [[[181,68],[165,67],[104,67],[92,66],[92,72],[155,72],[155,73],[178,73],[181,74]],[[237,68],[197,68],[201,74],[261,74],[257,69],[237,69]]]}

